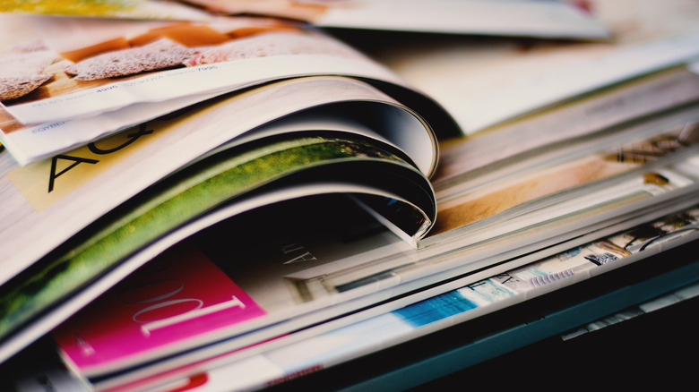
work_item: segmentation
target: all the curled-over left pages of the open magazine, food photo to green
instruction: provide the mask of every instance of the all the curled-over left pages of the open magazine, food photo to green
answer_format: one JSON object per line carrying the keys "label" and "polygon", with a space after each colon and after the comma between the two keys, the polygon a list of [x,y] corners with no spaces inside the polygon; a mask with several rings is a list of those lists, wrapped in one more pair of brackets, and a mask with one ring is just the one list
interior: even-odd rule
{"label": "all the curled-over left pages of the open magazine, food photo to green", "polygon": [[[2,306],[12,315],[3,320],[4,355],[23,345],[13,334],[46,332],[58,315],[158,252],[248,209],[312,194],[355,195],[353,202],[413,248],[434,225],[427,178],[436,170],[435,127],[458,130],[429,98],[350,47],[297,25],[246,18],[227,19],[229,35],[213,34],[220,30],[211,24],[39,21],[38,30],[54,32],[39,38],[64,31],[94,43],[105,42],[100,31],[117,31],[117,40],[144,47],[164,43],[157,56],[184,50],[186,58],[163,65],[134,43],[86,45],[92,55],[79,60],[46,42],[22,51],[26,41],[15,41],[7,58],[58,57],[52,71],[39,72],[49,80],[4,101],[3,141],[12,154],[0,157],[9,207]],[[194,49],[171,38],[183,29]],[[223,42],[202,46],[211,35]],[[82,71],[73,73],[73,65]],[[22,136],[31,141],[19,147]],[[23,166],[13,159],[20,151],[32,157]],[[79,292],[82,300],[65,302]],[[39,329],[32,333],[27,323]]]}

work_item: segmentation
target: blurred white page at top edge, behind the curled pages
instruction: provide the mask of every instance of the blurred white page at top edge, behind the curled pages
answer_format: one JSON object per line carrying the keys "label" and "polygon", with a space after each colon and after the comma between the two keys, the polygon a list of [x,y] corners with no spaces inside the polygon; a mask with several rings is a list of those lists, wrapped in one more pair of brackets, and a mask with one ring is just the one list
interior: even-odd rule
{"label": "blurred white page at top edge, behind the curled pages", "polygon": [[329,4],[320,27],[539,38],[608,38],[604,26],[557,1],[358,0]]}

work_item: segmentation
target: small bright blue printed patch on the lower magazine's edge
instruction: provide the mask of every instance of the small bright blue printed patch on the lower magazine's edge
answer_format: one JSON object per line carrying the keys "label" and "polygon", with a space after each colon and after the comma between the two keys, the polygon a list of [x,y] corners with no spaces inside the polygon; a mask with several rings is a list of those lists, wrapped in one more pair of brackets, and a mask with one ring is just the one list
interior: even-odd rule
{"label": "small bright blue printed patch on the lower magazine's edge", "polygon": [[431,322],[445,319],[455,314],[477,308],[479,305],[464,298],[458,291],[437,295],[419,303],[393,311],[413,327],[421,327]]}

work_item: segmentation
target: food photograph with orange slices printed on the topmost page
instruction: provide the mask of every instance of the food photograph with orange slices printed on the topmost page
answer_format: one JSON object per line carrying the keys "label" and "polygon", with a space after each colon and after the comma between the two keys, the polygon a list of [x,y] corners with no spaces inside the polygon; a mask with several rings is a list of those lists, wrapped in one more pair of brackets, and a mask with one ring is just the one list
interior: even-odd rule
{"label": "food photograph with orange slices printed on the topmost page", "polygon": [[[211,22],[36,19],[37,34],[3,51],[4,83],[0,98],[10,113],[19,104],[57,98],[78,90],[90,94],[121,81],[138,85],[166,78],[177,69],[273,55],[356,55],[349,48],[318,37],[290,21],[229,18]],[[159,71],[171,71],[158,73]],[[127,83],[126,81],[132,81]],[[177,77],[169,87],[182,95]],[[160,87],[160,86],[159,86]],[[73,95],[74,97],[74,95]],[[75,99],[75,98],[73,98]],[[39,110],[39,106],[37,106]]]}

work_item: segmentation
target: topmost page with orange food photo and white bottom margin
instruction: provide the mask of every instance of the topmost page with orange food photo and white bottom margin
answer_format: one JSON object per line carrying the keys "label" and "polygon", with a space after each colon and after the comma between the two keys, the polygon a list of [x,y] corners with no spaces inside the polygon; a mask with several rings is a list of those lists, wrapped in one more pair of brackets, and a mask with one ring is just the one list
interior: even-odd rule
{"label": "topmost page with orange food photo and white bottom margin", "polygon": [[[344,74],[399,81],[351,47],[290,21],[3,17],[10,21],[3,23],[5,34],[14,39],[4,49],[4,76],[11,79],[0,97],[7,113],[24,125],[290,77]],[[18,33],[17,25],[29,29]]]}

